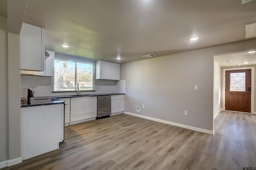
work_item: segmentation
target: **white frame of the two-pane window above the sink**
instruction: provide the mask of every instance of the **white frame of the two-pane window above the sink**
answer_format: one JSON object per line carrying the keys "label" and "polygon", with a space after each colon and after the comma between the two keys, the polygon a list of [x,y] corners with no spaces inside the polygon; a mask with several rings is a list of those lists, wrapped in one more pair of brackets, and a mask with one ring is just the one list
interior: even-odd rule
{"label": "white frame of the two-pane window above the sink", "polygon": [[92,90],[82,90],[82,89],[79,89],[79,91],[81,92],[92,92],[92,91],[95,91],[95,71],[96,71],[96,64],[94,61],[80,61],[80,60],[75,60],[75,59],[63,59],[63,58],[60,58],[60,57],[55,57],[54,58],[54,63],[55,63],[55,60],[61,60],[61,61],[69,61],[69,62],[74,62],[75,63],[75,88],[74,90],[54,90],[54,78],[55,78],[55,66],[54,66],[54,76],[52,78],[52,84],[53,84],[53,91],[52,92],[77,92],[78,89],[76,87],[76,84],[77,84],[77,76],[76,76],[76,63],[82,63],[82,64],[92,64],[93,66],[93,72],[92,72]]}

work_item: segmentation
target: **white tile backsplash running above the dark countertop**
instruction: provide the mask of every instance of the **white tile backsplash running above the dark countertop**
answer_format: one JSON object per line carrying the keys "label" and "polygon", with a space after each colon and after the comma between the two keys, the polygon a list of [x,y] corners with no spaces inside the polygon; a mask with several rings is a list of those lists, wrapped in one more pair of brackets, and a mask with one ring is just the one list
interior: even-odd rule
{"label": "white tile backsplash running above the dark countertop", "polygon": [[[76,92],[53,92],[53,77],[21,76],[21,97],[23,88],[32,88],[35,96],[65,96],[75,95]],[[95,80],[95,92],[82,92],[81,94],[125,93],[125,80]]]}

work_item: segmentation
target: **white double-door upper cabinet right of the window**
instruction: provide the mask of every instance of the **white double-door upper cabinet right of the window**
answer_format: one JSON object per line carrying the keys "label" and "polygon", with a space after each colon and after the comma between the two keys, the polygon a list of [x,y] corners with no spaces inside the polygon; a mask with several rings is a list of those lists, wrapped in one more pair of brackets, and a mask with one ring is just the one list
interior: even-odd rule
{"label": "white double-door upper cabinet right of the window", "polygon": [[96,61],[96,79],[120,80],[120,64]]}

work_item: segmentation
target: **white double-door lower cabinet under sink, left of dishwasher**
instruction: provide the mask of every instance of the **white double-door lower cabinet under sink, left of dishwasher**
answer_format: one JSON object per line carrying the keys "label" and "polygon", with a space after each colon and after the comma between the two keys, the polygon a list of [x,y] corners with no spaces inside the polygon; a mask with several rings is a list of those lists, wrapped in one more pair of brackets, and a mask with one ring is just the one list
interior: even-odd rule
{"label": "white double-door lower cabinet under sink, left of dishwasher", "polygon": [[70,99],[69,125],[96,120],[96,117],[97,96],[76,97]]}

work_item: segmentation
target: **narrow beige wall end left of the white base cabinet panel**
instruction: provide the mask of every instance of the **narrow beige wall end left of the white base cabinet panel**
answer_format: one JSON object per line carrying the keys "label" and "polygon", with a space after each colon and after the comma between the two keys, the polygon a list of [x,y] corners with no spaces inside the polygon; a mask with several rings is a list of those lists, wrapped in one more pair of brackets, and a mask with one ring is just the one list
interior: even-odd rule
{"label": "narrow beige wall end left of the white base cabinet panel", "polygon": [[22,161],[20,156],[20,35],[8,32],[8,165]]}

